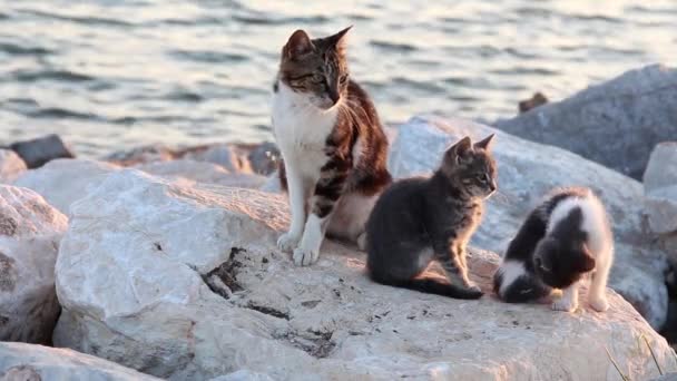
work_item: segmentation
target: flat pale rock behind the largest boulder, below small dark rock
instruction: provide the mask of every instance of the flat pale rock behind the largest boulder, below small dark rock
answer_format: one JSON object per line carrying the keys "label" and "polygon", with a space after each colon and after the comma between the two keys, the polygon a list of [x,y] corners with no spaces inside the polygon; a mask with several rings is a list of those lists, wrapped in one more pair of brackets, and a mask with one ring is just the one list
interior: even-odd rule
{"label": "flat pale rock behind the largest boulder, below small dark rock", "polygon": [[45,166],[23,173],[16,186],[33,189],[49,204],[68,215],[70,204],[98,186],[117,166],[89,159],[56,159]]}

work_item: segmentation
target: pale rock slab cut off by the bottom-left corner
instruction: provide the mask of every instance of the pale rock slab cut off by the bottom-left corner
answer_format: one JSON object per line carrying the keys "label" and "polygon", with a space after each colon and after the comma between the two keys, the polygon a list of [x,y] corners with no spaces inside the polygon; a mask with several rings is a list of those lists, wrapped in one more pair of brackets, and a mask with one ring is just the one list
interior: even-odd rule
{"label": "pale rock slab cut off by the bottom-left corner", "polygon": [[151,381],[159,379],[69,349],[0,342],[0,380]]}

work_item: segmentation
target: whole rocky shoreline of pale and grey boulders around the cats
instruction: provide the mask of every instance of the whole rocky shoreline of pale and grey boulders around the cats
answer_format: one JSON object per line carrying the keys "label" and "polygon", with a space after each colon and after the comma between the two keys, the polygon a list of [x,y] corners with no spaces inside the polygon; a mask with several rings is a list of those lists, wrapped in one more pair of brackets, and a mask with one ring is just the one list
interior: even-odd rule
{"label": "whole rocky shoreline of pale and grey boulders around the cats", "polygon": [[387,129],[399,178],[430,173],[462,136],[497,134],[499,194],[470,258],[489,293],[494,253],[540,195],[593,188],[616,235],[607,313],[380,286],[363,274],[364,253],[337,242],[324,244],[315,266],[295,267],[275,247],[288,209],[271,143],[140,147],[35,169],[21,152],[0,149],[0,340],[55,346],[0,343],[0,380],[56,378],[69,361],[78,380],[146,377],[130,369],[171,380],[597,380],[620,379],[617,365],[646,380],[677,371],[657,333],[677,336],[675,109],[677,70],[650,66],[498,129],[433,116]]}

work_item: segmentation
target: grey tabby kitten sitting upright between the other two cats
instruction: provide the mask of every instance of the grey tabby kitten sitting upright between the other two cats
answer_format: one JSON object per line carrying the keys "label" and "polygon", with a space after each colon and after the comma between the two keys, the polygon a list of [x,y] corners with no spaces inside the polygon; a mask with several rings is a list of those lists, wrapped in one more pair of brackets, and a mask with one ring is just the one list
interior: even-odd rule
{"label": "grey tabby kitten sitting upright between the other two cats", "polygon": [[[468,279],[465,245],[480,224],[482,201],[497,189],[492,138],[473,145],[465,137],[444,153],[432,177],[399,180],[383,193],[366,224],[372,280],[458,299],[482,296]],[[433,260],[449,283],[418,277]]]}

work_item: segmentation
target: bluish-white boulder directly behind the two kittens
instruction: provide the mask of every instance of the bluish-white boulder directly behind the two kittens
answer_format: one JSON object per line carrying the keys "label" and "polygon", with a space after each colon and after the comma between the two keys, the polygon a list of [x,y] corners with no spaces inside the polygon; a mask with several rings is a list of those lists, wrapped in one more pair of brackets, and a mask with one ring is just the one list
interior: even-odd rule
{"label": "bluish-white boulder directly behind the two kittens", "polygon": [[642,227],[642,188],[638,182],[582,157],[523,140],[463,119],[413,118],[400,127],[389,166],[395,177],[426,174],[442,152],[465,135],[497,134],[499,192],[488,203],[475,245],[502,253],[531,207],[556,186],[589,186],[606,204],[614,223],[616,264],[610,286],[660,329],[667,316],[665,253]]}

